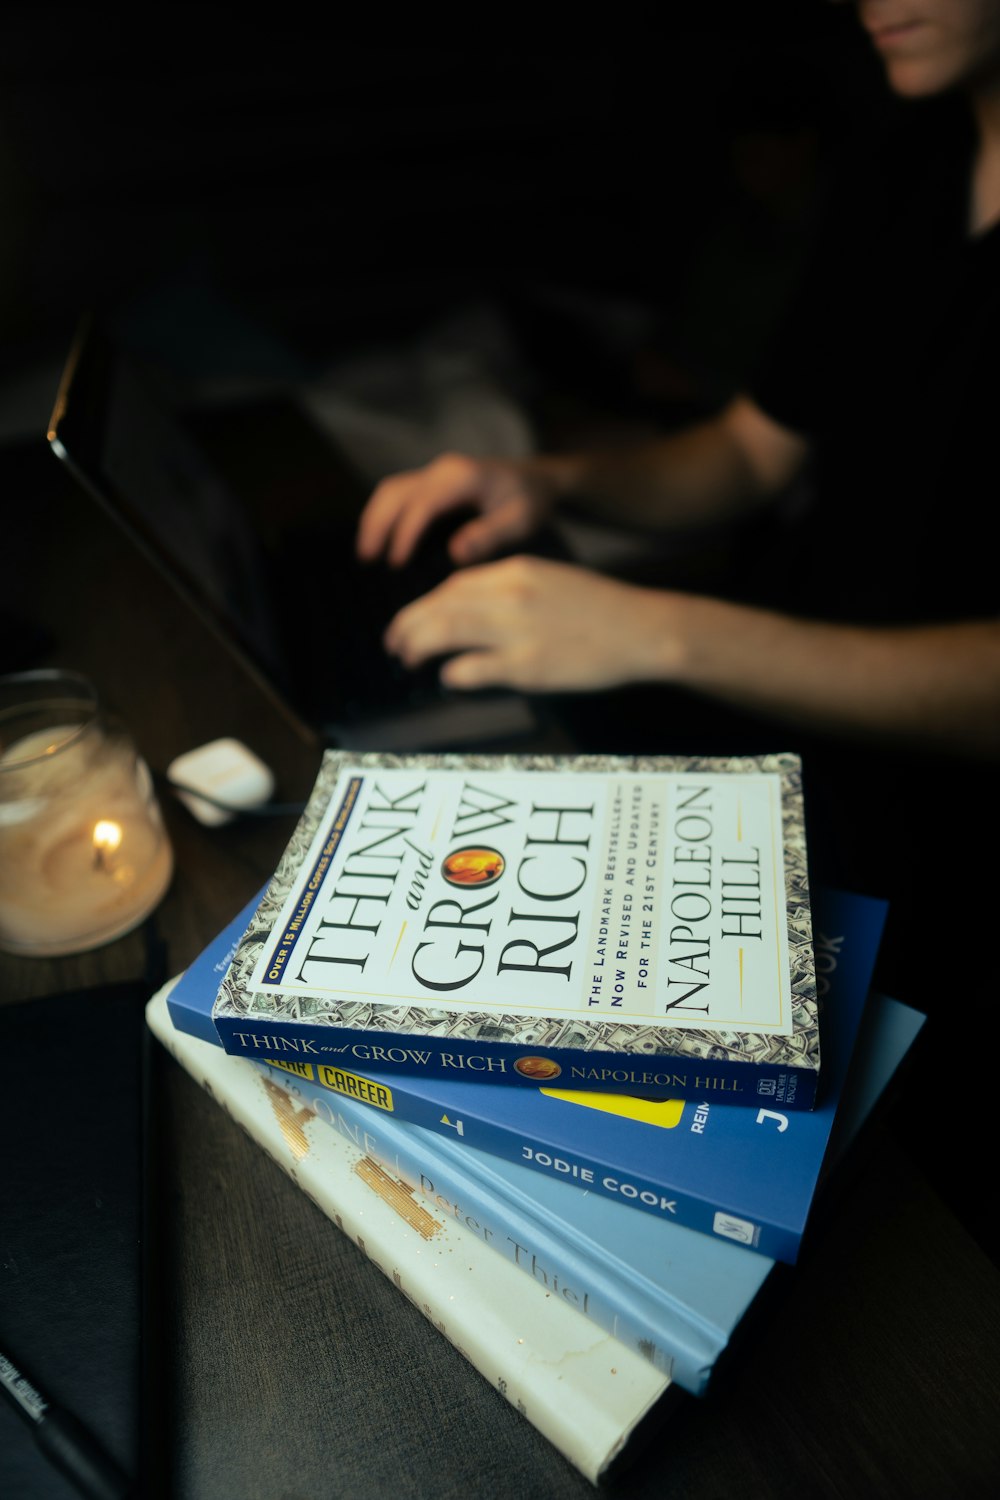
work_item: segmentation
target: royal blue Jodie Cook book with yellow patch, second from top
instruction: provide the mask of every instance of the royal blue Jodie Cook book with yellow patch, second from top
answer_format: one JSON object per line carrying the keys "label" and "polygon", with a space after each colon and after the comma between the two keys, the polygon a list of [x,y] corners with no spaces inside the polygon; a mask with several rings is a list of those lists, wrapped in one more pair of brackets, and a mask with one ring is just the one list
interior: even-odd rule
{"label": "royal blue Jodie Cook book with yellow patch, second from top", "polygon": [[[252,902],[192,964],[168,1006],[174,1026],[219,1044],[211,1004]],[[327,1119],[339,1100],[432,1130],[459,1154],[484,1150],[598,1198],[795,1262],[871,972],[885,903],[820,891],[814,898],[823,1002],[823,1089],[814,1112],[649,1101],[630,1095],[498,1089],[442,1078],[354,1072],[319,1062],[271,1064]],[[370,1124],[378,1136],[381,1126]]]}

